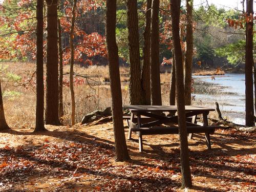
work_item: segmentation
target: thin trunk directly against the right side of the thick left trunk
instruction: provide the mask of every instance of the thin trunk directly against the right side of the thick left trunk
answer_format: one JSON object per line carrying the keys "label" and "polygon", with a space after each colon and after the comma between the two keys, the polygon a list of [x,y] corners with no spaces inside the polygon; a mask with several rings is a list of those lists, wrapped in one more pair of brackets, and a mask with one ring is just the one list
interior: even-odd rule
{"label": "thin trunk directly against the right side of the thick left trunk", "polygon": [[63,112],[63,50],[61,44],[61,27],[58,19],[58,47],[59,47],[59,118],[64,115]]}

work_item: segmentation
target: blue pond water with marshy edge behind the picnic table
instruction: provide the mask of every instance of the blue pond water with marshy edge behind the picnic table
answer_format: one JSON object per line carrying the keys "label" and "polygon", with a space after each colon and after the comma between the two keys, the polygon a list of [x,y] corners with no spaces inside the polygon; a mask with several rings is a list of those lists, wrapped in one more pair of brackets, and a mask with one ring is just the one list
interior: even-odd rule
{"label": "blue pond water with marshy edge behind the picnic table", "polygon": [[223,117],[245,124],[245,74],[228,73],[212,77],[193,76],[195,102],[215,106],[217,101]]}

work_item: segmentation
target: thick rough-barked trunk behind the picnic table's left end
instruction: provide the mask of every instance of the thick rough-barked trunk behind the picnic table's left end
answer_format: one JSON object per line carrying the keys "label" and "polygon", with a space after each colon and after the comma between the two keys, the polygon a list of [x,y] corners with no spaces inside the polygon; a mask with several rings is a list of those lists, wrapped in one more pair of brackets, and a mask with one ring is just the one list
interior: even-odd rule
{"label": "thick rough-barked trunk behind the picnic table's left end", "polygon": [[130,52],[130,102],[143,104],[137,0],[127,0],[127,24]]}

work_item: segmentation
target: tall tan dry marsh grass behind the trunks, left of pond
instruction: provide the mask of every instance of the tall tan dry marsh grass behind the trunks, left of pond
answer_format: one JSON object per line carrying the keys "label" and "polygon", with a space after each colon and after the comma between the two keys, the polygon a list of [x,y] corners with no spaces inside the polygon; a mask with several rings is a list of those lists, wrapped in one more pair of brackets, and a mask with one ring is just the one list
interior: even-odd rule
{"label": "tall tan dry marsh grass behind the trunks, left of pond", "polygon": [[[28,81],[35,72],[34,63],[13,63],[5,62],[3,66],[8,66],[7,71],[17,74]],[[165,73],[161,73],[161,89],[162,103],[169,103],[169,82],[170,73],[168,69]],[[88,82],[75,86],[75,101],[76,101],[76,122],[80,122],[84,114],[90,113],[96,109],[104,109],[111,106],[111,92],[108,66],[91,66],[89,68],[75,66],[75,74],[88,77]],[[69,78],[69,66],[63,69],[64,79]],[[5,74],[3,74],[5,75]],[[122,81],[122,98],[123,105],[129,104],[129,68],[120,67],[120,76]],[[78,76],[79,77],[79,76]],[[83,77],[79,77],[84,79]],[[105,80],[107,82],[105,82]],[[32,79],[35,82],[35,75]],[[2,86],[4,91],[18,92],[19,96],[4,97],[5,114],[8,124],[11,127],[34,127],[35,124],[35,109],[36,109],[36,94],[35,86],[28,86],[29,89],[24,89],[23,86],[17,86],[22,82],[4,81]],[[70,122],[71,102],[70,102],[69,87],[63,88],[63,107],[65,116],[63,122]],[[196,100],[195,104],[203,104],[202,100]],[[207,101],[206,101],[207,102]],[[205,102],[205,103],[206,103]]]}

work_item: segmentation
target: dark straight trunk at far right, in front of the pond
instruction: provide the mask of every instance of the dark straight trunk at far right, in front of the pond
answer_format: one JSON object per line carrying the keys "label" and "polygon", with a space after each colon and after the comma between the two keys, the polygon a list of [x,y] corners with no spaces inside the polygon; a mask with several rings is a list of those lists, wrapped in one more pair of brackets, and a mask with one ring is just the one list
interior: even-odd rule
{"label": "dark straight trunk at far right, in front of the pond", "polygon": [[[247,16],[253,15],[253,0],[246,0]],[[245,124],[254,125],[253,109],[253,20],[246,23],[245,45]]]}

